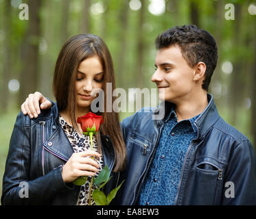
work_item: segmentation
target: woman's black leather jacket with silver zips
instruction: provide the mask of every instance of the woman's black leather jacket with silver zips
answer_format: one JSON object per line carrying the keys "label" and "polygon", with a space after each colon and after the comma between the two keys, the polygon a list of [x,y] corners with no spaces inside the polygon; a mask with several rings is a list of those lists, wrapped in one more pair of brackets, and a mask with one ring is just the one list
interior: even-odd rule
{"label": "woman's black leather jacket with silver zips", "polygon": [[[104,164],[112,170],[115,153],[109,136],[101,136],[100,144]],[[58,123],[57,104],[34,119],[20,112],[3,175],[2,205],[76,205],[80,186],[64,183],[61,175],[73,152]],[[107,193],[112,185],[110,180],[105,186]]]}

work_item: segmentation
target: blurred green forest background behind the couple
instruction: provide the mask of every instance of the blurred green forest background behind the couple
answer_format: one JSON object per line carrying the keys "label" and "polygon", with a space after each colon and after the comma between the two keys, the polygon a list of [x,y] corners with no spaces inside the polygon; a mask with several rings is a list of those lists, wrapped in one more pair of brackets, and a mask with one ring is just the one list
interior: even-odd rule
{"label": "blurred green forest background behind the couple", "polygon": [[[209,92],[220,116],[255,146],[256,1],[0,0],[0,196],[20,105],[36,90],[54,100],[54,66],[68,38],[81,33],[103,38],[113,56],[117,88],[128,94],[129,88],[155,88],[150,77],[156,36],[190,23],[209,31],[218,44]],[[121,112],[120,120],[130,114]]]}

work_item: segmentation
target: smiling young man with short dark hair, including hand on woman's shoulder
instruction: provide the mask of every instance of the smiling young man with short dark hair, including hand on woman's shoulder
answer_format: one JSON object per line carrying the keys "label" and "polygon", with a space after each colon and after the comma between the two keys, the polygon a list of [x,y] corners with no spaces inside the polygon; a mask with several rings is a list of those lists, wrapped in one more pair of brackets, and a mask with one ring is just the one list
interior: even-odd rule
{"label": "smiling young man with short dark hair, including hand on woman's shoulder", "polygon": [[[185,25],[160,34],[156,49],[152,81],[165,103],[159,106],[165,116],[152,119],[158,108],[122,122],[128,162],[115,203],[256,205],[253,146],[219,116],[207,94],[218,60],[215,40]],[[23,104],[23,112],[35,112],[39,99],[49,107],[36,93]]]}

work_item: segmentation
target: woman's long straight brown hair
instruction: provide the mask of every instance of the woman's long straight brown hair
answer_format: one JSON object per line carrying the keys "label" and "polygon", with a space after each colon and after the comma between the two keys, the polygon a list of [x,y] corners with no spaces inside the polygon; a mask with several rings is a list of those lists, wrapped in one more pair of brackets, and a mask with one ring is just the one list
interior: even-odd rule
{"label": "woman's long straight brown hair", "polygon": [[[112,84],[110,94],[115,90],[115,74],[113,60],[104,41],[93,34],[78,34],[71,37],[62,47],[54,70],[53,90],[59,112],[67,110],[73,127],[78,128],[75,118],[75,80],[79,64],[88,57],[100,57],[104,69],[104,123],[100,132],[110,136],[115,151],[114,172],[124,170],[126,165],[126,146],[119,125],[116,112],[106,112],[106,83]],[[112,97],[112,105],[115,97]],[[78,129],[77,129],[78,130]],[[99,138],[99,136],[97,136]],[[100,146],[100,145],[99,145]]]}

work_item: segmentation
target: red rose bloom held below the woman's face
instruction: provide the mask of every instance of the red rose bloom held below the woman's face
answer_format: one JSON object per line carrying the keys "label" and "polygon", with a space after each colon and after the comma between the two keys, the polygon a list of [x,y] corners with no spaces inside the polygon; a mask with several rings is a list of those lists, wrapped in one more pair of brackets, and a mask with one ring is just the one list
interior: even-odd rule
{"label": "red rose bloom held below the woman's face", "polygon": [[89,112],[84,116],[78,117],[77,122],[81,125],[83,133],[95,133],[99,130],[100,124],[103,123],[103,118],[102,116],[97,116],[96,114]]}

